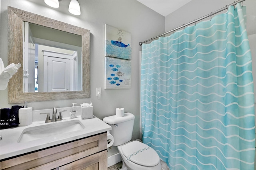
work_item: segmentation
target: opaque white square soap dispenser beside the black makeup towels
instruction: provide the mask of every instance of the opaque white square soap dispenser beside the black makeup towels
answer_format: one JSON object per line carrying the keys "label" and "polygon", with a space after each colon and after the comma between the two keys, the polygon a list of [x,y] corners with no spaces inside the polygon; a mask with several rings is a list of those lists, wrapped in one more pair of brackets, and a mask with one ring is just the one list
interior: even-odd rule
{"label": "opaque white square soap dispenser beside the black makeup towels", "polygon": [[32,107],[28,107],[27,102],[24,102],[23,108],[19,109],[19,123],[20,123],[19,126],[30,125],[32,121],[33,121]]}

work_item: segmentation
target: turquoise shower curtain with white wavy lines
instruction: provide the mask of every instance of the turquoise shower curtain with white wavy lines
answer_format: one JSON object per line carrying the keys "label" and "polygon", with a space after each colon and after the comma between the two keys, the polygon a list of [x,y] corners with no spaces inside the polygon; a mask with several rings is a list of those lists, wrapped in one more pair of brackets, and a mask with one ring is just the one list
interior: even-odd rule
{"label": "turquoise shower curtain with white wavy lines", "polygon": [[142,140],[171,170],[254,169],[244,8],[142,45]]}

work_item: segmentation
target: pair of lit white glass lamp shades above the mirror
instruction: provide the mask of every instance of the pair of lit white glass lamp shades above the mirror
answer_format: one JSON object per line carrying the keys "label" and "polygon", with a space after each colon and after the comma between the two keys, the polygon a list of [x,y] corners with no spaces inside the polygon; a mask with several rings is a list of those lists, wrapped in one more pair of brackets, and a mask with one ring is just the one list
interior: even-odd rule
{"label": "pair of lit white glass lamp shades above the mirror", "polygon": [[[44,0],[44,2],[48,5],[51,6],[52,8],[59,8],[59,1],[61,0]],[[80,16],[81,15],[81,10],[80,10],[80,5],[78,3],[78,0],[71,0],[69,7],[68,7],[68,11],[71,14],[74,14],[76,16]]]}

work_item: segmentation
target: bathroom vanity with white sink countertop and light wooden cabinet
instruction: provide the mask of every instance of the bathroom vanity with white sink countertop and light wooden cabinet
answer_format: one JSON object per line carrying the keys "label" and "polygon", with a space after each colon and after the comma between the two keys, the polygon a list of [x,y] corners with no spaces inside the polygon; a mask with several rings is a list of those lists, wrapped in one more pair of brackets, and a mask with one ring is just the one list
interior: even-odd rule
{"label": "bathroom vanity with white sink countertop and light wooden cabinet", "polygon": [[[82,129],[60,134],[48,132],[62,125],[69,129],[74,129],[73,125],[75,128],[82,125]],[[97,117],[82,120],[78,116],[59,122],[39,121],[25,127],[1,130],[0,169],[106,170],[107,131],[111,129]],[[42,135],[38,137],[39,132]],[[44,136],[44,133],[49,134]]]}

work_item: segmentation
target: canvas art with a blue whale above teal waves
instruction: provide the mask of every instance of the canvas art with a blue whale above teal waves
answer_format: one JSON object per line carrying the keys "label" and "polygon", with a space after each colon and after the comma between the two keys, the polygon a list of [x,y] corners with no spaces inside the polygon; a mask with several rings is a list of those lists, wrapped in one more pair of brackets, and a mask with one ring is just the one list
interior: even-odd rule
{"label": "canvas art with a blue whale above teal waves", "polygon": [[105,24],[105,56],[132,59],[131,33]]}

